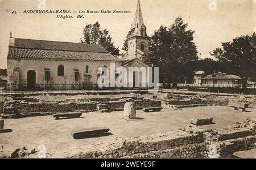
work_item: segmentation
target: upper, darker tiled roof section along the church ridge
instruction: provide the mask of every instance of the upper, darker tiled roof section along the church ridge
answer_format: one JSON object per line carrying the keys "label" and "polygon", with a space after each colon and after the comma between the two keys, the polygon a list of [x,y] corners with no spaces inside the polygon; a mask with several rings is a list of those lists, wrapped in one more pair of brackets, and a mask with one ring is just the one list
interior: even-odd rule
{"label": "upper, darker tiled roof section along the church ridge", "polygon": [[30,48],[30,49],[50,49],[60,51],[80,51],[80,52],[101,52],[108,53],[108,51],[99,44],[84,44],[84,43],[70,43],[70,42],[53,42],[46,40],[32,40],[15,38],[16,48]]}

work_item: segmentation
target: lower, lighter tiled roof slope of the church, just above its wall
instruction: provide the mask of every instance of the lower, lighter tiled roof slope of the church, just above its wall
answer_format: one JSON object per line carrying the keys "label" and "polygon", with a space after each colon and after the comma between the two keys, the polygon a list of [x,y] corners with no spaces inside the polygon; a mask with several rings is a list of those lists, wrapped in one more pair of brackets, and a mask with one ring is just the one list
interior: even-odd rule
{"label": "lower, lighter tiled roof slope of the church, just above its wall", "polygon": [[110,53],[9,48],[8,59],[121,61]]}

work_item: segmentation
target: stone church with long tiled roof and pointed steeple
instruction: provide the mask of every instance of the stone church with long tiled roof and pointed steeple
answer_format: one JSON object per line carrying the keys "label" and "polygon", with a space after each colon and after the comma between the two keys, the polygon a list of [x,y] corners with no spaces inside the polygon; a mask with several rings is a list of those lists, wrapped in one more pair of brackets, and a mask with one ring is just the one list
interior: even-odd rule
{"label": "stone church with long tiled roof and pointed steeple", "polygon": [[[7,55],[7,81],[26,85],[27,90],[37,84],[97,84],[98,68],[149,67],[146,26],[138,1],[128,51],[122,59],[111,55],[102,45],[48,40],[13,38],[10,36]],[[18,90],[18,89],[17,89]]]}

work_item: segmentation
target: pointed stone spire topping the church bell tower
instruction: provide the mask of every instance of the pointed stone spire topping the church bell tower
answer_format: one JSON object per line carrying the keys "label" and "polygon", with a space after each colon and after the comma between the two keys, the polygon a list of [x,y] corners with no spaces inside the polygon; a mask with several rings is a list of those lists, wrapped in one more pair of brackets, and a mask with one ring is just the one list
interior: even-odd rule
{"label": "pointed stone spire topping the church bell tower", "polygon": [[131,34],[147,36],[146,27],[144,26],[144,23],[143,23],[141,4],[139,3],[139,1],[138,1],[135,17],[134,17],[134,22],[133,24],[131,24]]}

